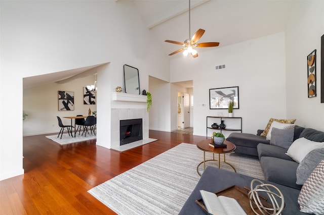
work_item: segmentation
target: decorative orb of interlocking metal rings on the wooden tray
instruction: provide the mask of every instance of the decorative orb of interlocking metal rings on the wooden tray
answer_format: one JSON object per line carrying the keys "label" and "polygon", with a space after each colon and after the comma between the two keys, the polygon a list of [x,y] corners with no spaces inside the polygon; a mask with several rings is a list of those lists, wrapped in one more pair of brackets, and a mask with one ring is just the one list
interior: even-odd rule
{"label": "decorative orb of interlocking metal rings on the wooden tray", "polygon": [[[263,205],[263,196],[267,195],[269,205]],[[253,179],[251,182],[251,191],[249,192],[250,206],[253,212],[257,215],[281,214],[285,207],[285,199],[280,190],[272,184],[264,184],[258,179]],[[263,201],[263,202],[262,202]],[[272,204],[272,206],[270,206]],[[259,211],[257,211],[256,207]],[[260,213],[259,213],[260,212]]]}

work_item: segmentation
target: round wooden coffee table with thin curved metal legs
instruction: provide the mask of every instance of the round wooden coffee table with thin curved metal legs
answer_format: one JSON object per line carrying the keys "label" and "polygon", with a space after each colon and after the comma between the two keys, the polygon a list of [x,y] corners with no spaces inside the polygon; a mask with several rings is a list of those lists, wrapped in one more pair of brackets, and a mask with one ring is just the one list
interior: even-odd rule
{"label": "round wooden coffee table with thin curved metal legs", "polygon": [[[229,152],[232,152],[235,150],[236,146],[232,143],[232,142],[229,142],[227,140],[224,141],[224,144],[227,145],[227,147],[223,147],[223,148],[213,148],[212,146],[209,146],[209,143],[211,143],[212,140],[211,139],[206,139],[206,140],[203,140],[203,141],[200,141],[197,143],[197,148],[199,148],[200,150],[204,151],[204,161],[199,163],[198,166],[197,166],[197,173],[199,176],[201,176],[201,174],[199,173],[198,171],[198,168],[201,164],[204,164],[204,170],[206,168],[206,162],[209,162],[209,161],[215,161],[215,153],[218,154],[218,168],[221,167],[221,162],[229,165],[231,168],[233,168],[234,172],[236,173],[236,170],[235,168],[228,164],[225,160],[225,154],[226,153],[229,153]],[[206,160],[206,152],[209,152],[209,153],[213,153],[213,159],[210,159],[210,160]],[[221,161],[220,159],[220,156],[221,154],[224,154],[224,161]]]}

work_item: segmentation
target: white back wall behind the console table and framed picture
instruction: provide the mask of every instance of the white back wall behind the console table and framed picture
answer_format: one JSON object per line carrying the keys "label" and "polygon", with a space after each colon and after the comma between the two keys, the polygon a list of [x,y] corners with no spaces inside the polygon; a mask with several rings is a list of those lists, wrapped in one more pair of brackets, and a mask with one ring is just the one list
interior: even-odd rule
{"label": "white back wall behind the console table and framed picture", "polygon": [[[239,110],[233,113],[242,117],[245,133],[256,133],[269,118],[286,118],[285,33],[198,53],[196,59],[170,63],[172,82],[193,80],[194,135],[206,135],[206,116],[227,116],[227,110],[209,109],[212,88],[239,86]],[[224,64],[225,69],[215,70]]]}

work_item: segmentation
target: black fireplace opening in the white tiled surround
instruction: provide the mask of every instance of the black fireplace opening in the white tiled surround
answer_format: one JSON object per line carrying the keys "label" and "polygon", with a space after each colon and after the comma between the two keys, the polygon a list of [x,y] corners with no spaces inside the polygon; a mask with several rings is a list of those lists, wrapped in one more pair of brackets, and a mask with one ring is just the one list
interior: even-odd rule
{"label": "black fireplace opening in the white tiled surround", "polygon": [[143,119],[120,120],[120,145],[143,139]]}

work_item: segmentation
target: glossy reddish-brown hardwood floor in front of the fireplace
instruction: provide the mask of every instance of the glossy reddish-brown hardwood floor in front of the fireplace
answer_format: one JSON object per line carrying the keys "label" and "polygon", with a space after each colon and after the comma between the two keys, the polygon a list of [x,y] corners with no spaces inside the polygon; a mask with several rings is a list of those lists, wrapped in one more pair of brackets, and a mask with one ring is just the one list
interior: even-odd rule
{"label": "glossy reddish-brown hardwood floor in front of the fireplace", "polygon": [[157,141],[118,152],[95,140],[61,146],[47,135],[23,137],[25,174],[0,181],[0,214],[115,214],[87,191],[182,142],[206,139],[149,131]]}

